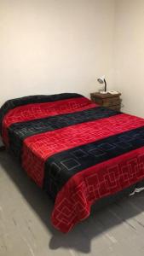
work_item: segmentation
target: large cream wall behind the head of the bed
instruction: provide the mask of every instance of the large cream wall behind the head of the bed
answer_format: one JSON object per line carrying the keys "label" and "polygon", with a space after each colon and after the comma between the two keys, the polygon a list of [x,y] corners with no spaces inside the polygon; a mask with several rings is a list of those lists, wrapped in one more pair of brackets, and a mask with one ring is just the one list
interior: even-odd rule
{"label": "large cream wall behind the head of the bed", "polygon": [[[114,0],[0,0],[0,105],[113,85]],[[97,88],[96,88],[97,87]]]}

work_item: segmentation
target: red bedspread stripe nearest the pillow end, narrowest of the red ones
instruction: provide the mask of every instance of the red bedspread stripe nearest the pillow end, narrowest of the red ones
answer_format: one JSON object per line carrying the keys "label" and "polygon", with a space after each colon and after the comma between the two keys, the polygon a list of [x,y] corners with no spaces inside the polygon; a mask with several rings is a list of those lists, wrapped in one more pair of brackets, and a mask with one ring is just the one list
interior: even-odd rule
{"label": "red bedspread stripe nearest the pillow end, narrowest of the red ones", "polygon": [[97,104],[90,102],[85,97],[71,98],[57,102],[34,103],[9,110],[3,119],[3,142],[9,145],[8,128],[10,125],[33,119],[43,119],[63,113],[73,113],[89,108],[95,108]]}

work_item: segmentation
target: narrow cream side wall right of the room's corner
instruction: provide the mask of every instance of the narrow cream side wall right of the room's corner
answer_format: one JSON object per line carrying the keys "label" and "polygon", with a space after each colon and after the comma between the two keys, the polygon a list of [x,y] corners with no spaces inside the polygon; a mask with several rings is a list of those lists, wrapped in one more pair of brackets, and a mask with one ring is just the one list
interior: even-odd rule
{"label": "narrow cream side wall right of the room's corner", "polygon": [[144,1],[116,1],[115,84],[124,111],[144,117]]}

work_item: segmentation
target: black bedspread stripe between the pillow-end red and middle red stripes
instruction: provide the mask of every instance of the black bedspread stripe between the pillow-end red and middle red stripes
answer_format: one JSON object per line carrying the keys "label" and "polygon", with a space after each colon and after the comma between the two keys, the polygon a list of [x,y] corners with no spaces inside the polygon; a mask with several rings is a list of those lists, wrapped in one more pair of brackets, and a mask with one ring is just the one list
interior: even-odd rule
{"label": "black bedspread stripe between the pillow-end red and middle red stripes", "polygon": [[120,114],[108,108],[91,108],[76,113],[60,114],[55,117],[35,119],[24,123],[17,123],[9,127],[9,149],[20,159],[23,140],[46,131],[55,131],[70,125],[89,122],[97,119]]}

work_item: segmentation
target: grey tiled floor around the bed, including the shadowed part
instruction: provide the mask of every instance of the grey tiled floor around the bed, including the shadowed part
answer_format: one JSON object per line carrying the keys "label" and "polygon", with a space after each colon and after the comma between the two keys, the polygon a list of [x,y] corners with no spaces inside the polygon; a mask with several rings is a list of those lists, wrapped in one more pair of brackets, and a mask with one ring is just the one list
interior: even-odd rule
{"label": "grey tiled floor around the bed, including the shadowed part", "polygon": [[0,152],[0,256],[144,255],[144,192],[96,212],[71,233],[50,224],[53,204]]}

